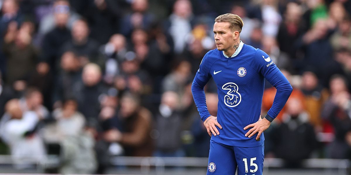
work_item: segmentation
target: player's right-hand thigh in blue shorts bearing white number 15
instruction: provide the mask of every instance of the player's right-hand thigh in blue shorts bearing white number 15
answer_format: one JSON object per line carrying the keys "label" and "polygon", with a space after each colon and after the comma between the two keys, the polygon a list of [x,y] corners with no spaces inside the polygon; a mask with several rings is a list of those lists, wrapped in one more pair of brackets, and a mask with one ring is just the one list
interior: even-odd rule
{"label": "player's right-hand thigh in blue shorts bearing white number 15", "polygon": [[262,175],[264,145],[257,147],[234,147],[238,175]]}

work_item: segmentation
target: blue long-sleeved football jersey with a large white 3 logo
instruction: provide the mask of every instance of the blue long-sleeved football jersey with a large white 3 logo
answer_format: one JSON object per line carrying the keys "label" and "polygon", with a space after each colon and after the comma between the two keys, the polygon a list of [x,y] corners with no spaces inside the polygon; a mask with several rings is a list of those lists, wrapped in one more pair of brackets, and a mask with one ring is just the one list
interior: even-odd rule
{"label": "blue long-sleeved football jersey with a large white 3 logo", "polygon": [[[259,140],[256,140],[257,134],[251,138],[245,137],[249,130],[244,130],[244,127],[259,119],[265,78],[273,86],[282,84],[291,88],[282,72],[264,51],[240,41],[239,48],[232,57],[218,49],[207,52],[196,73],[193,86],[194,83],[204,86],[211,77],[218,92],[217,121],[223,127],[222,130],[217,127],[220,135],[212,136],[211,139],[237,147],[262,145],[264,134],[261,134]],[[205,121],[210,114],[203,103],[204,96],[201,96],[200,103],[199,98],[196,98],[198,94],[194,93],[196,90],[192,88],[192,91],[201,119]],[[291,89],[288,88],[287,91],[291,93]],[[285,94],[283,99],[274,100],[275,106],[268,112],[270,117],[275,118],[278,115],[289,95]]]}

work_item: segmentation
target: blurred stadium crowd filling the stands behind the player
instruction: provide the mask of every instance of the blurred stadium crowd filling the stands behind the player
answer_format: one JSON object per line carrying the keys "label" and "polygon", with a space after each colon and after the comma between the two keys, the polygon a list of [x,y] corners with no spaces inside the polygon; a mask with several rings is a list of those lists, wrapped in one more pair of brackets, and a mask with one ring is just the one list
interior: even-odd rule
{"label": "blurred stadium crowd filling the stands behind the player", "polygon": [[[293,86],[265,132],[266,157],[287,167],[351,159],[350,0],[0,0],[0,9],[0,153],[17,168],[48,154],[60,155],[61,173],[104,173],[119,155],[207,157],[190,87],[224,13],[243,18],[240,39]],[[215,84],[205,91],[216,116]],[[266,82],[262,116],[275,93]]]}

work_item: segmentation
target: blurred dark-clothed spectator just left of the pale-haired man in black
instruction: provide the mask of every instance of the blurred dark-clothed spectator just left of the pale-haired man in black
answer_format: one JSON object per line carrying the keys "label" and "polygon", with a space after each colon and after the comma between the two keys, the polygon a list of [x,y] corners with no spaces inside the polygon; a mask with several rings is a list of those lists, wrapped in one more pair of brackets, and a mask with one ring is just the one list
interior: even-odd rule
{"label": "blurred dark-clothed spectator just left of the pale-haired man in black", "polygon": [[65,52],[61,57],[61,71],[53,91],[54,109],[61,106],[63,99],[74,96],[74,85],[81,80],[81,76],[82,67],[77,56],[71,51]]}

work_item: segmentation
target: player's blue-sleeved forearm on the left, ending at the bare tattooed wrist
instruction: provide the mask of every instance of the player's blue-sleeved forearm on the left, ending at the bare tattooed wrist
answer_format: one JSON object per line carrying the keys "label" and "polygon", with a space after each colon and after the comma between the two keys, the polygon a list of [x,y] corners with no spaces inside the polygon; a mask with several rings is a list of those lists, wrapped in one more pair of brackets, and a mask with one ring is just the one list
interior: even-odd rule
{"label": "player's blue-sleeved forearm on the left, ending at the bare tattooed wrist", "polygon": [[206,105],[206,95],[204,91],[205,84],[205,82],[201,82],[195,77],[191,85],[191,92],[193,94],[194,102],[197,106],[202,121],[205,121],[211,116]]}

